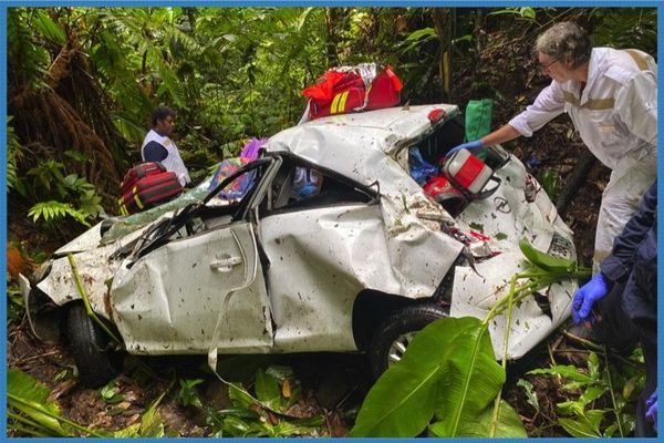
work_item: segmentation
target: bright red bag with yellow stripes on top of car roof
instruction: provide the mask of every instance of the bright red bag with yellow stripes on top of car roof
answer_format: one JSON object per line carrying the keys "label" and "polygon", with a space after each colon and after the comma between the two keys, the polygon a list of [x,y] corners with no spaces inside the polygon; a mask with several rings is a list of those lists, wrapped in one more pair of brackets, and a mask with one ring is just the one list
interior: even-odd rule
{"label": "bright red bag with yellow stripes on top of car roof", "polygon": [[[375,75],[373,72],[377,72]],[[403,89],[392,66],[375,64],[334,68],[307,87],[309,119],[395,106]]]}

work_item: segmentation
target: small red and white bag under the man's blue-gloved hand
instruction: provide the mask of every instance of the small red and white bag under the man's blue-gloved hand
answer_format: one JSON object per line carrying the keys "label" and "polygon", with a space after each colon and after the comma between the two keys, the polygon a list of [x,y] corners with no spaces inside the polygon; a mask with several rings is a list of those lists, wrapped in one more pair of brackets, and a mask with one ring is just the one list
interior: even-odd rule
{"label": "small red and white bag under the man's blue-gloved hand", "polygon": [[[443,158],[442,171],[449,183],[471,200],[487,198],[500,186],[500,178],[494,176],[494,171],[467,150]],[[489,181],[496,185],[485,189]]]}

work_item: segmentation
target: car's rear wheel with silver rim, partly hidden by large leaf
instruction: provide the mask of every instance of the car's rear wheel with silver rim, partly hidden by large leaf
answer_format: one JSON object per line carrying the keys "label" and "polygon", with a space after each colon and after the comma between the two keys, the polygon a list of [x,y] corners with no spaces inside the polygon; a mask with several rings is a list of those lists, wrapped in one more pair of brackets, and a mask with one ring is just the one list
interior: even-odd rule
{"label": "car's rear wheel with silver rim, partly hidden by large leaf", "polygon": [[409,306],[386,317],[374,331],[369,349],[374,377],[377,379],[390,364],[401,360],[415,332],[445,317],[448,317],[447,311],[436,305]]}

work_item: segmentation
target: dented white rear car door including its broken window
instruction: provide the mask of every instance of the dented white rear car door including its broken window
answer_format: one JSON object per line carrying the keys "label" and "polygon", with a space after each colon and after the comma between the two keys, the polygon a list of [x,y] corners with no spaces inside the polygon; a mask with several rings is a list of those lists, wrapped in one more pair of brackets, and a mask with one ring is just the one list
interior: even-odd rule
{"label": "dented white rear car door including its broken window", "polygon": [[[355,350],[355,297],[391,268],[378,196],[330,171],[294,162],[284,159],[259,224],[270,259],[274,349]],[[310,177],[309,192],[302,193],[301,175]]]}

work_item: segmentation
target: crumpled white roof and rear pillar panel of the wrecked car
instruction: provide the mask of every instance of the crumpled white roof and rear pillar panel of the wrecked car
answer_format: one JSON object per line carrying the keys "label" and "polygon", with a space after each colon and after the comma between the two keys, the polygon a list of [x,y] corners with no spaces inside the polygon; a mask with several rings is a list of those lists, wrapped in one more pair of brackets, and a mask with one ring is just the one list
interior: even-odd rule
{"label": "crumpled white roof and rear pillar panel of the wrecked car", "polygon": [[[267,144],[268,151],[292,152],[364,185],[378,183],[390,267],[398,280],[394,293],[409,298],[432,296],[445,275],[439,269],[449,269],[463,248],[440,231],[442,222],[454,219],[390,155],[430,128],[428,113],[437,109],[449,117],[457,112],[428,105],[326,117],[282,131]],[[437,274],[433,257],[439,260]]]}

